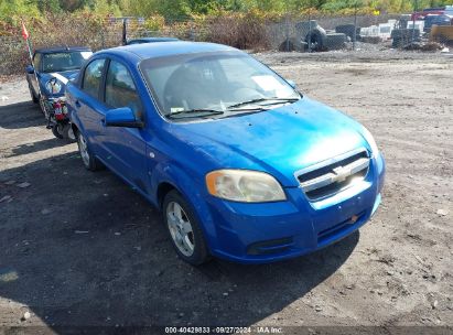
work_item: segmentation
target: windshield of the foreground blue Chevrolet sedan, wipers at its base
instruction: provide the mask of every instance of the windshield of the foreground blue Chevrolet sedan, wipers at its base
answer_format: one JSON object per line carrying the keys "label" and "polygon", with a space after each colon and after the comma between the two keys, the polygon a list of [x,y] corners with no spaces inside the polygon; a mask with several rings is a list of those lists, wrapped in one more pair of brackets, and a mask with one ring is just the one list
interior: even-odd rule
{"label": "windshield of the foreground blue Chevrolet sedan, wipers at its base", "polygon": [[140,64],[165,117],[206,112],[222,117],[263,110],[301,98],[271,69],[238,52],[149,58]]}

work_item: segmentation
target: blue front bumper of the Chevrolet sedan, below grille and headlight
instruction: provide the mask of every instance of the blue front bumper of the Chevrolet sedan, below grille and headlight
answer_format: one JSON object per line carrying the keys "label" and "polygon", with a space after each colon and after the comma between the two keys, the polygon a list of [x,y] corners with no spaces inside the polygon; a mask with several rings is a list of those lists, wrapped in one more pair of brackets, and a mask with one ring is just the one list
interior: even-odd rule
{"label": "blue front bumper of the Chevrolet sedan, below grille and headlight", "polygon": [[215,234],[208,238],[211,252],[236,262],[263,263],[324,248],[357,230],[375,214],[384,177],[385,161],[378,154],[363,182],[319,202],[310,202],[300,187],[285,188],[288,199],[277,203],[211,197],[208,216],[215,223]]}

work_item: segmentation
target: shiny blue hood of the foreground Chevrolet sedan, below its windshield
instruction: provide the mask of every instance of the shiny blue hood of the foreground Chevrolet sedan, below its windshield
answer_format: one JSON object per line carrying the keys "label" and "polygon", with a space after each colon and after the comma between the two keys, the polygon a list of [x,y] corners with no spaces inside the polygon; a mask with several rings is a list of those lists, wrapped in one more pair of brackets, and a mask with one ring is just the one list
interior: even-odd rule
{"label": "shiny blue hood of the foreground Chevrolet sedan, below its windshield", "polygon": [[[181,127],[181,128],[180,128]],[[284,186],[298,186],[294,173],[365,147],[362,126],[306,97],[269,111],[177,125],[182,140],[203,153],[213,169],[266,171]]]}

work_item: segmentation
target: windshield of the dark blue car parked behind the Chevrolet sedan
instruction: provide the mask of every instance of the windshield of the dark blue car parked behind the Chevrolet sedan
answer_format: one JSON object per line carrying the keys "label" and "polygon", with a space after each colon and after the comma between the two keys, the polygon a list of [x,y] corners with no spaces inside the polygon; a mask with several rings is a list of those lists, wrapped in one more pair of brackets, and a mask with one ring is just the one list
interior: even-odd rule
{"label": "windshield of the dark blue car parked behind the Chevrolet sedan", "polygon": [[43,72],[79,69],[93,53],[89,51],[60,52],[43,55]]}

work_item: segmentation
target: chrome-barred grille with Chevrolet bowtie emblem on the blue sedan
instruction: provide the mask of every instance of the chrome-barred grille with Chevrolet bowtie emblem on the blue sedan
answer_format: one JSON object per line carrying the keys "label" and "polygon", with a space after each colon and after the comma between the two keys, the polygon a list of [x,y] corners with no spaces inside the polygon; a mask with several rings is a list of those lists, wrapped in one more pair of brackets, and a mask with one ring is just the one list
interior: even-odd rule
{"label": "chrome-barred grille with Chevrolet bowtie emblem on the blue sedan", "polygon": [[310,199],[320,199],[365,179],[368,168],[368,152],[358,149],[301,170],[295,176]]}

